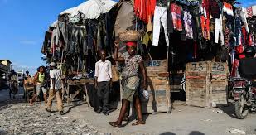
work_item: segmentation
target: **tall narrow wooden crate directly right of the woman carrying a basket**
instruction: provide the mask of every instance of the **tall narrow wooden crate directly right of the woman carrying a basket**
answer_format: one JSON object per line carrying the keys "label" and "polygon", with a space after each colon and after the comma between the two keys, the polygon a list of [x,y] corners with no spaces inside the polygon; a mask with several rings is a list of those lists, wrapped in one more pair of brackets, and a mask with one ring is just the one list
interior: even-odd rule
{"label": "tall narrow wooden crate directly right of the woman carrying a basket", "polygon": [[[149,66],[152,63],[157,66]],[[171,111],[171,93],[168,84],[167,60],[147,60],[147,90],[149,99],[142,101],[142,113],[162,113]]]}

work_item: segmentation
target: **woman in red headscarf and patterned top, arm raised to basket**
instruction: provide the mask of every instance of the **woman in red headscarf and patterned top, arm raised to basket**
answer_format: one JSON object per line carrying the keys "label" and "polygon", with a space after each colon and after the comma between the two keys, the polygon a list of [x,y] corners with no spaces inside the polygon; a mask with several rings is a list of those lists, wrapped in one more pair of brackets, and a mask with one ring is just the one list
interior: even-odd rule
{"label": "woman in red headscarf and patterned top, arm raised to basket", "polygon": [[127,111],[128,105],[133,101],[133,104],[136,108],[136,113],[138,114],[138,121],[132,125],[145,124],[142,119],[142,109],[140,100],[138,98],[138,87],[139,87],[139,78],[138,70],[142,71],[143,75],[143,88],[147,89],[147,76],[146,70],[143,64],[142,57],[136,55],[137,43],[129,41],[126,43],[126,50],[121,57],[118,57],[118,41],[114,42],[114,60],[118,62],[124,62],[124,68],[122,72],[122,86],[123,86],[123,99],[122,99],[122,108],[119,113],[119,118],[116,122],[109,122],[113,127],[121,127],[122,121]]}

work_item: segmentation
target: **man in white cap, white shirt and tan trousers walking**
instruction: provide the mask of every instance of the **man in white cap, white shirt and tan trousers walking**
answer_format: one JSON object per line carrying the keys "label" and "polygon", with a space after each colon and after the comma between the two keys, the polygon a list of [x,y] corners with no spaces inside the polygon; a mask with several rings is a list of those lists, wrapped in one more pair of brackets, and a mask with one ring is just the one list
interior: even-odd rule
{"label": "man in white cap, white shirt and tan trousers walking", "polygon": [[61,70],[56,68],[56,63],[51,62],[50,64],[50,77],[51,77],[51,87],[49,91],[49,98],[47,102],[46,111],[51,113],[52,99],[56,96],[57,108],[60,115],[63,115],[63,103],[61,99]]}

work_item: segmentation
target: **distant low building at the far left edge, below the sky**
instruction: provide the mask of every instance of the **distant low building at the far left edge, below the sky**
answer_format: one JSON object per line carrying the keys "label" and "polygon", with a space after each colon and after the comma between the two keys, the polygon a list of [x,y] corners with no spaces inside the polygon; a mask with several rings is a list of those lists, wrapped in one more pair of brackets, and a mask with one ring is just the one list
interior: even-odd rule
{"label": "distant low building at the far left edge, below the sky", "polygon": [[0,60],[0,87],[7,84],[7,75],[12,70],[12,62],[10,60]]}

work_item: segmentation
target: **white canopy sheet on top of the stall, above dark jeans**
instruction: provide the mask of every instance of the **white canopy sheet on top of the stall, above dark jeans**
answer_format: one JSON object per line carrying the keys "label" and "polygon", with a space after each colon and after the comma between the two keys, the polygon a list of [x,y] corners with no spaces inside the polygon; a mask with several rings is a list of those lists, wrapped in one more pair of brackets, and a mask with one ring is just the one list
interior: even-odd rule
{"label": "white canopy sheet on top of the stall, above dark jeans", "polygon": [[61,14],[71,14],[71,16],[77,15],[79,12],[85,15],[86,19],[96,19],[102,13],[109,12],[117,2],[112,0],[89,0],[81,3],[78,7],[73,7],[61,12]]}

